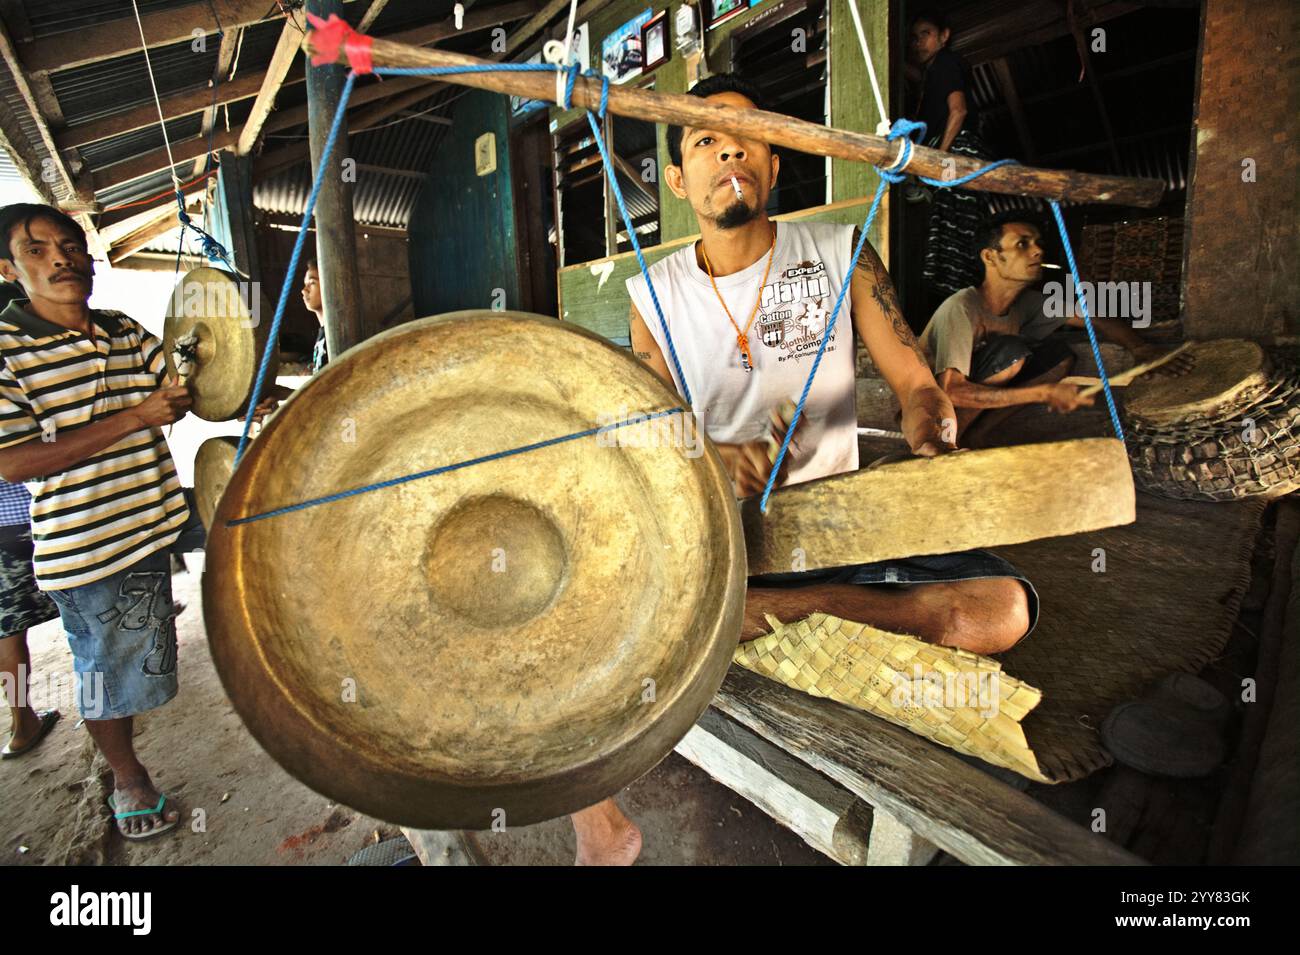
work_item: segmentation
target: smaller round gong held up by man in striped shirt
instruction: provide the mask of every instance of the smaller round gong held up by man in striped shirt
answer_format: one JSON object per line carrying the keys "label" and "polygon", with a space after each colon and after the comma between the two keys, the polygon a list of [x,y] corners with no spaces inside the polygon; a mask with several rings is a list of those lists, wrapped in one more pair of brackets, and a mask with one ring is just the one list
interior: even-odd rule
{"label": "smaller round gong held up by man in striped shirt", "polygon": [[[178,374],[178,343],[182,361],[192,364],[185,381],[194,395],[191,411],[200,418],[229,421],[247,411],[272,314],[254,283],[221,269],[194,269],[177,283],[162,348],[169,374]],[[272,382],[278,365],[277,351],[270,359]]]}

